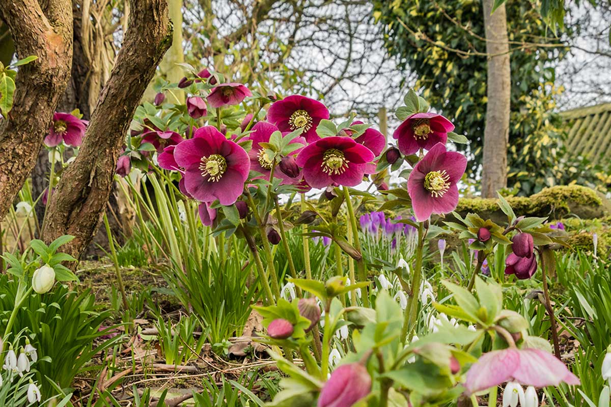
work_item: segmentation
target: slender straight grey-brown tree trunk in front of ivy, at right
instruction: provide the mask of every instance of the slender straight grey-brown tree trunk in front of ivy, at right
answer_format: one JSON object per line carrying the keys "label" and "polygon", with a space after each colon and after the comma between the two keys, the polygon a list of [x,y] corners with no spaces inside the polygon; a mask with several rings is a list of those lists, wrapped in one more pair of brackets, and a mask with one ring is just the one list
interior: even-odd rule
{"label": "slender straight grey-brown tree trunk in front of ivy, at right", "polygon": [[481,196],[493,198],[507,186],[507,143],[511,99],[511,71],[505,4],[492,13],[493,0],[483,0],[488,56],[486,128],[481,170]]}

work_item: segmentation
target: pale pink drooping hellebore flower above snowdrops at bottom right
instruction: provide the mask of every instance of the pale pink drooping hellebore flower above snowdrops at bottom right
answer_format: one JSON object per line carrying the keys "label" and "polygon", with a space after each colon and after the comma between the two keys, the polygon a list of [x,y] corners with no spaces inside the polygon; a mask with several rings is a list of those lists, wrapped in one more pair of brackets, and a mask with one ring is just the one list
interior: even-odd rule
{"label": "pale pink drooping hellebore flower above snowdrops at bottom right", "polygon": [[473,394],[506,381],[535,387],[558,386],[561,382],[579,384],[579,378],[551,353],[507,348],[481,356],[467,372],[464,387]]}

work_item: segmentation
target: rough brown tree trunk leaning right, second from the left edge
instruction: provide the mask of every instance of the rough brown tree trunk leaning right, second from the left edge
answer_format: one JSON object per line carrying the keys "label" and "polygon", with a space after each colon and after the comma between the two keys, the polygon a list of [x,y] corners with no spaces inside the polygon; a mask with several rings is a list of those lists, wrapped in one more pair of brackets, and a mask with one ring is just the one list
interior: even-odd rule
{"label": "rough brown tree trunk leaning right, second from the left edge", "polygon": [[131,0],[130,22],[111,77],[93,110],[81,149],[48,203],[43,240],[80,258],[106,209],[117,159],[136,107],[172,41],[166,0]]}

